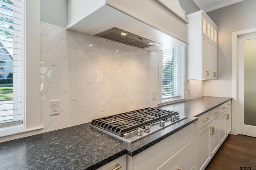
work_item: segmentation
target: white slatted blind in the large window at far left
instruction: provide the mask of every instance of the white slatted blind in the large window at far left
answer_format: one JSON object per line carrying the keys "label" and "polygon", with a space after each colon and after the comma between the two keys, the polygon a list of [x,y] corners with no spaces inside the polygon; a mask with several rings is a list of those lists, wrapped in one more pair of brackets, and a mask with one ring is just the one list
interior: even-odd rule
{"label": "white slatted blind in the large window at far left", "polygon": [[0,128],[24,120],[24,2],[0,0]]}

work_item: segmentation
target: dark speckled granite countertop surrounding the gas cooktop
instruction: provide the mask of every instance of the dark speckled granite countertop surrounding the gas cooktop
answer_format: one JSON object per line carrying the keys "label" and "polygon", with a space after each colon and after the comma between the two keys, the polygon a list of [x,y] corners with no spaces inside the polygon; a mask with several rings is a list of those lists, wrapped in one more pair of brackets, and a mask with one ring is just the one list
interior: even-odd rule
{"label": "dark speckled granite countertop surrounding the gas cooktop", "polygon": [[124,154],[142,152],[196,121],[194,116],[228,100],[231,98],[201,97],[161,106],[188,118],[134,143],[102,133],[90,123],[0,143],[0,165],[4,170],[96,169]]}

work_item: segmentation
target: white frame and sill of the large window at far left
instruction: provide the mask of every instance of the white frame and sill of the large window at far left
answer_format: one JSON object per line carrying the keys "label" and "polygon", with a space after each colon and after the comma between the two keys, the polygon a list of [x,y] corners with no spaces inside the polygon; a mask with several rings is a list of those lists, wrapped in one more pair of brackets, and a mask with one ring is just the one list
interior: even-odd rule
{"label": "white frame and sill of the large window at far left", "polygon": [[24,31],[24,120],[0,129],[0,137],[42,129],[40,126],[40,1],[25,0]]}

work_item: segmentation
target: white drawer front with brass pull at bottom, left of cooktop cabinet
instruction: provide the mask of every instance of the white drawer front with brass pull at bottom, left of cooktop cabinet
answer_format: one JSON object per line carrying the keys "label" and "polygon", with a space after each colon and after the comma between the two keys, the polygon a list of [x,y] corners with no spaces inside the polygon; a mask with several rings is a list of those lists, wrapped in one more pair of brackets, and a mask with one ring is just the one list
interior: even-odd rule
{"label": "white drawer front with brass pull at bottom, left of cooktop cabinet", "polygon": [[111,162],[98,168],[97,170],[113,170],[114,168],[116,168],[116,170],[126,170],[126,155],[123,155],[119,158],[116,158],[115,160],[112,160]]}

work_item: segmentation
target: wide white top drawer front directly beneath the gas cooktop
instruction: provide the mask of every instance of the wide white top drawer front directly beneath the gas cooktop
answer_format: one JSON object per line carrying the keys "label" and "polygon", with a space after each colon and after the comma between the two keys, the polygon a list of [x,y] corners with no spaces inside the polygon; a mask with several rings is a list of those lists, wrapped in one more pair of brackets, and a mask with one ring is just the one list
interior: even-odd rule
{"label": "wide white top drawer front directly beneath the gas cooktop", "polygon": [[192,123],[156,145],[135,155],[134,170],[158,168],[194,139],[194,126],[195,124]]}

